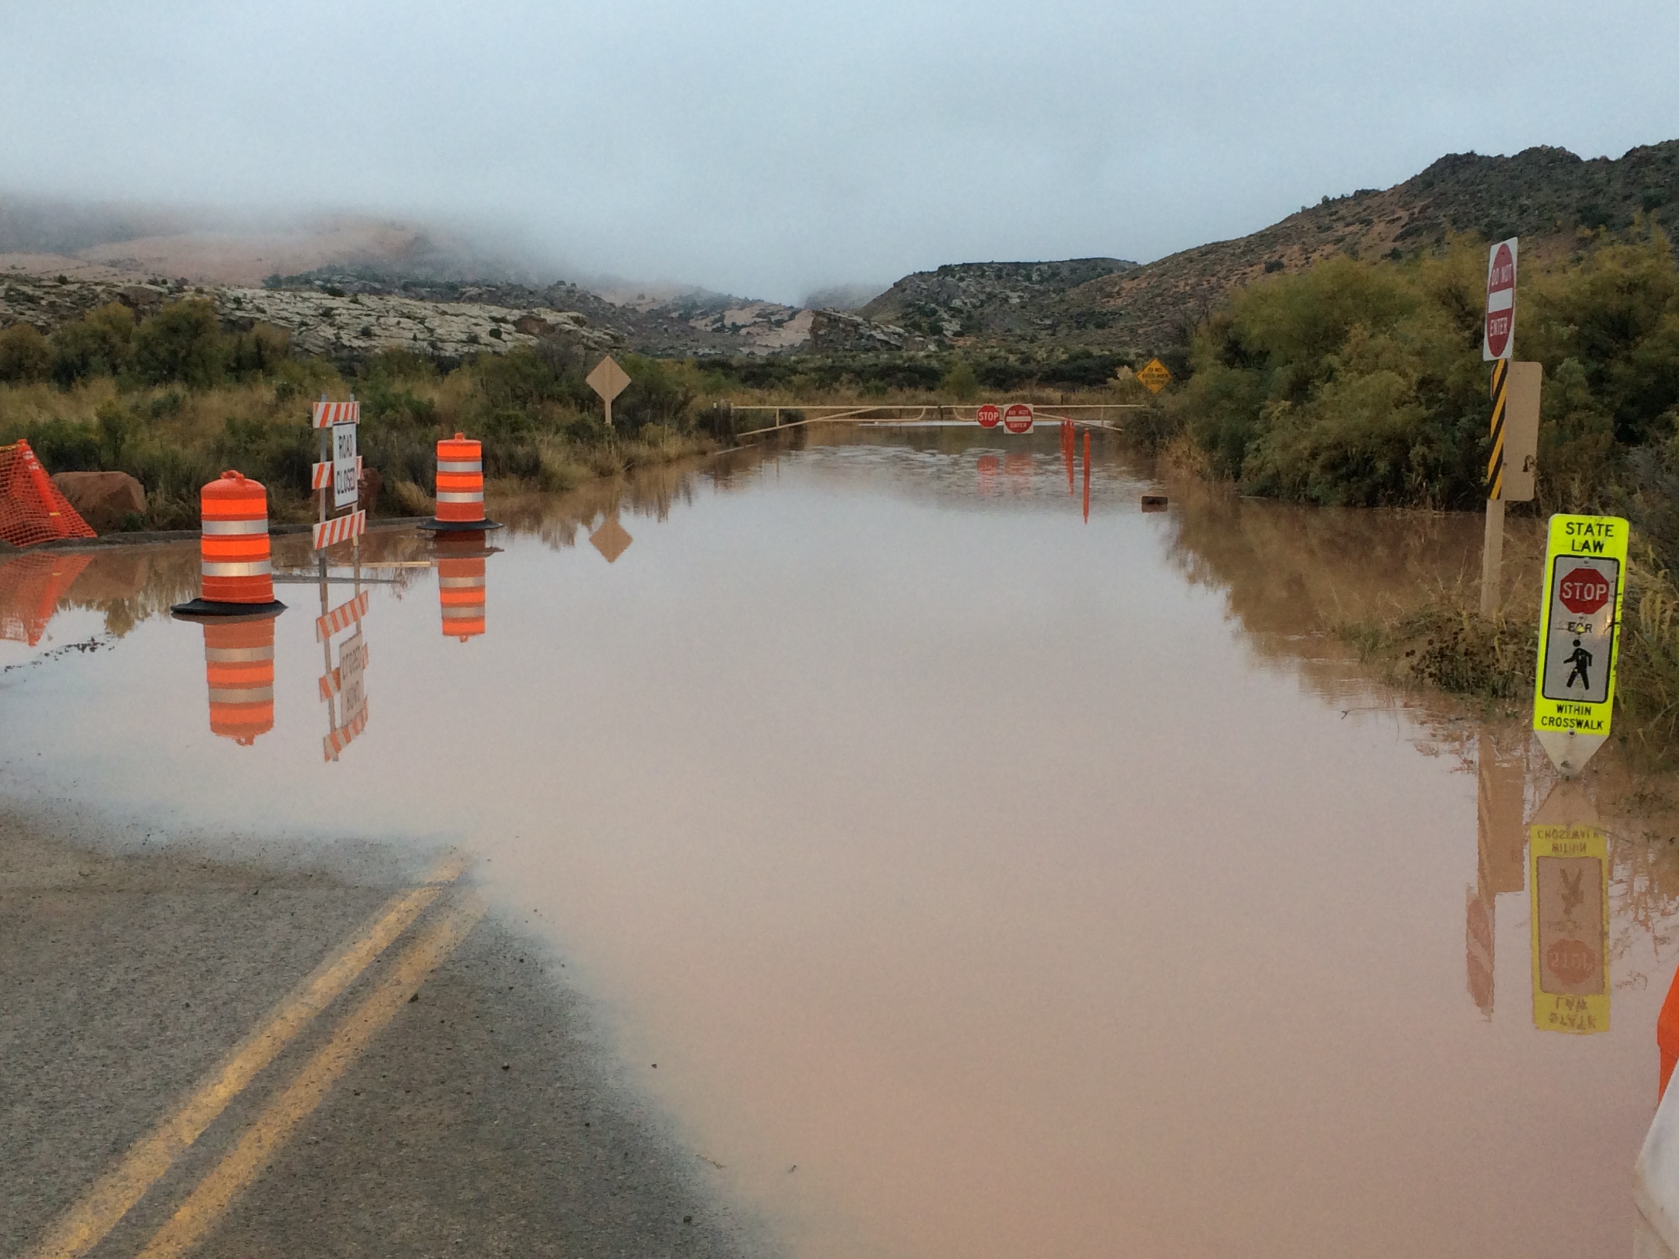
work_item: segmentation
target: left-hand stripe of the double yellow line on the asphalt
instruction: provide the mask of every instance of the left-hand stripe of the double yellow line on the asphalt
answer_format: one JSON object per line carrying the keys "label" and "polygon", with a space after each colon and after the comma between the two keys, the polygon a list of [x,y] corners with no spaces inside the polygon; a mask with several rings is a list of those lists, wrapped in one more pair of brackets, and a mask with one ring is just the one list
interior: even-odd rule
{"label": "left-hand stripe of the double yellow line on the asphalt", "polygon": [[348,989],[470,863],[470,856],[452,853],[426,871],[423,886],[391,896],[336,953],[282,997],[269,1017],[198,1081],[186,1101],[131,1145],[27,1259],[76,1259],[97,1246],[257,1073]]}

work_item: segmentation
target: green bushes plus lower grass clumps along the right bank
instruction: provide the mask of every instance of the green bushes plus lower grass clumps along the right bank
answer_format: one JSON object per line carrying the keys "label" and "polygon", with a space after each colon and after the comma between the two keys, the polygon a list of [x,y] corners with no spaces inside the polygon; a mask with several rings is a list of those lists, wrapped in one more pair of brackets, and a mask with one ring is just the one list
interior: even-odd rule
{"label": "green bushes plus lower grass clumps along the right bank", "polygon": [[[1478,509],[1486,490],[1486,245],[1410,260],[1336,257],[1237,292],[1189,337],[1190,378],[1152,416],[1170,465],[1244,494],[1318,505]],[[1523,257],[1516,354],[1545,371],[1536,500],[1634,525],[1620,707],[1667,755],[1679,735],[1679,269],[1635,223]],[[1538,599],[1493,618],[1472,584],[1343,626],[1407,682],[1531,695]]]}

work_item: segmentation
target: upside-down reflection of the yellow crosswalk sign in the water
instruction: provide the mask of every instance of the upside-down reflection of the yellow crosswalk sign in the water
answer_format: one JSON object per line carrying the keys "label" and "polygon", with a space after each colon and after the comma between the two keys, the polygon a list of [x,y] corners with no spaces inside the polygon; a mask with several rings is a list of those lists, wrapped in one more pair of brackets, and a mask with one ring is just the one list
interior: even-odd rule
{"label": "upside-down reflection of the yellow crosswalk sign in the water", "polygon": [[1533,1026],[1608,1031],[1608,838],[1595,826],[1530,826]]}

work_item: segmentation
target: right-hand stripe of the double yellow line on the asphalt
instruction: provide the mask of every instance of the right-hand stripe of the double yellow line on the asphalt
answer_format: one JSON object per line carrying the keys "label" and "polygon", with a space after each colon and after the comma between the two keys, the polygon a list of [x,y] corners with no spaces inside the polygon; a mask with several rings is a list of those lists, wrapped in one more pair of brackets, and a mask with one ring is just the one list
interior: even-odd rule
{"label": "right-hand stripe of the double yellow line on the asphalt", "polygon": [[215,1227],[233,1199],[250,1188],[292,1138],[297,1125],[314,1113],[332,1084],[408,1004],[425,977],[455,952],[482,915],[484,903],[472,896],[465,905],[450,910],[398,959],[395,970],[344,1017],[332,1039],[309,1059],[285,1091],[269,1103],[238,1145],[198,1182],[170,1222],[146,1242],[139,1259],[176,1259]]}

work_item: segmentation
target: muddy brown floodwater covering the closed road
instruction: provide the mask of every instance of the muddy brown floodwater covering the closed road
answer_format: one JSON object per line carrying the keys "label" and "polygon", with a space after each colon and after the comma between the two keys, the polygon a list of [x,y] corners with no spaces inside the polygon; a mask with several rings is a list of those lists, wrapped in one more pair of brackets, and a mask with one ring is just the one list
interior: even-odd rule
{"label": "muddy brown floodwater covering the closed road", "polygon": [[809,433],[504,504],[465,638],[430,542],[378,532],[336,760],[316,586],[280,588],[274,725],[240,744],[203,630],[161,614],[191,544],[13,559],[0,792],[230,848],[470,844],[798,1256],[1624,1252],[1667,786],[1587,776],[1608,1014],[1561,1034],[1543,754],[1328,633],[1472,579],[1479,519],[1145,512],[1147,468],[1095,453],[1088,519],[1044,431]]}

